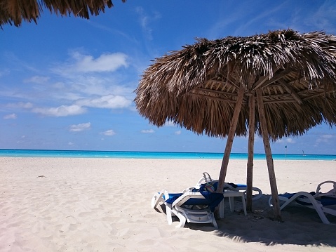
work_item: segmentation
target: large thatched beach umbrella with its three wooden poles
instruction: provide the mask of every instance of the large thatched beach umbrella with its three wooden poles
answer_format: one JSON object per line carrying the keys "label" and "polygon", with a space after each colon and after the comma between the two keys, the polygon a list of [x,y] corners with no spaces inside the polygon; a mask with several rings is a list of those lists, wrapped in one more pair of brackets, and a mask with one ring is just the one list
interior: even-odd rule
{"label": "large thatched beach umbrella with its three wooden poles", "polygon": [[[167,121],[227,137],[221,192],[234,135],[248,135],[248,209],[252,206],[253,144],[262,136],[274,217],[281,220],[269,140],[336,124],[336,37],[291,29],[252,37],[198,39],[157,58],[136,89],[140,114],[156,126]],[[257,100],[257,102],[255,102]],[[255,113],[257,110],[257,113]]]}

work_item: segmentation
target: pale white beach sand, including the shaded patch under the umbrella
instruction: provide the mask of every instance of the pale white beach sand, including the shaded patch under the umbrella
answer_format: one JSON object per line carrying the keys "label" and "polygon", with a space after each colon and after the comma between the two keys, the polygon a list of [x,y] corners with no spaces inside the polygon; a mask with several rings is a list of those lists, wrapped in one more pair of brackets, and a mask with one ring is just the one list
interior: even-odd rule
{"label": "pale white beach sand, including the shaded patch under the umbrella", "polygon": [[[255,161],[265,194],[254,213],[231,213],[211,225],[168,225],[150,206],[161,189],[181,192],[203,171],[218,178],[221,160],[0,157],[0,251],[336,251],[336,225],[288,206],[271,220],[267,164]],[[274,161],[278,192],[316,190],[336,180],[336,161]],[[245,183],[246,161],[231,160],[227,181]],[[160,208],[161,209],[161,208]],[[328,215],[332,223],[336,218]]]}

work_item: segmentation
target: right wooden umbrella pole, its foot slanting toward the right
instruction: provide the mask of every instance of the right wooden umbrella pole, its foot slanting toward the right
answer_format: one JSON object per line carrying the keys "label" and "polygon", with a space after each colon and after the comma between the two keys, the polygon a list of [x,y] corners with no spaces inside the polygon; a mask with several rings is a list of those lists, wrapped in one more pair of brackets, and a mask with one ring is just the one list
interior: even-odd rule
{"label": "right wooden umbrella pole, its foot slanting toward the right", "polygon": [[281,221],[280,204],[278,200],[278,188],[276,187],[276,175],[274,172],[273,157],[271,145],[269,144],[269,135],[267,132],[267,121],[264,112],[264,102],[262,101],[262,90],[257,89],[257,102],[259,111],[260,128],[262,131],[262,140],[264,140],[264,149],[266,154],[267,168],[269,170],[269,184],[271,185],[271,195],[273,200],[274,218]]}

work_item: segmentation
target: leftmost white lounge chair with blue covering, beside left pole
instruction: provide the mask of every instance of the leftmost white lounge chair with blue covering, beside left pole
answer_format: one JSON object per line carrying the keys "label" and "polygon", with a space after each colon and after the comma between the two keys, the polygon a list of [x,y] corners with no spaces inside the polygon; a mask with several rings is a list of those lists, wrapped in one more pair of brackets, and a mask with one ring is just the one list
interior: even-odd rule
{"label": "leftmost white lounge chair with blue covering, beside left pole", "polygon": [[157,208],[161,203],[166,206],[167,222],[173,224],[173,215],[179,218],[180,222],[176,227],[184,227],[188,223],[212,223],[217,229],[217,223],[213,211],[222,201],[222,194],[212,192],[168,193],[162,190],[154,194],[152,208]]}

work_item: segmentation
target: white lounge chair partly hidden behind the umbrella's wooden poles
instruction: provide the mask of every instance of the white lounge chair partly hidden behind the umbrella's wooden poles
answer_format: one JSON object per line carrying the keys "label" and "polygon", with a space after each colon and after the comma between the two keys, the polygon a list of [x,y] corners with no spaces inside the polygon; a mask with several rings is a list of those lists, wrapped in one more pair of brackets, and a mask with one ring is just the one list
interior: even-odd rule
{"label": "white lounge chair partly hidden behind the umbrella's wooden poles", "polygon": [[[213,180],[209,173],[204,172],[203,177],[199,179],[199,182],[197,182],[195,188],[198,188],[200,185],[203,183],[217,183],[218,180]],[[242,184],[234,184],[234,183],[224,183],[224,191],[225,190],[230,190],[230,191],[236,191],[236,192],[243,192],[245,197],[246,197],[246,190],[248,190],[247,185],[242,185]],[[252,200],[257,200],[262,197],[262,190],[260,190],[258,187],[252,187],[253,192],[257,192],[256,194],[253,194]]]}

